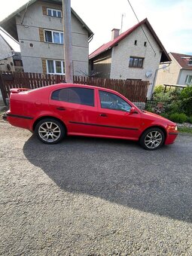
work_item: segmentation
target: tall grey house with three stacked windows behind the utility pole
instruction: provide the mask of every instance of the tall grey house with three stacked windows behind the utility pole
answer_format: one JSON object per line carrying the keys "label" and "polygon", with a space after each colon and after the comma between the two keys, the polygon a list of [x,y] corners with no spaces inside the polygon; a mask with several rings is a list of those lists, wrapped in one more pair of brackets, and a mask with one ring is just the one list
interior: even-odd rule
{"label": "tall grey house with three stacked windows behind the utility pole", "polygon": [[[31,0],[0,22],[20,43],[24,72],[65,74],[62,0]],[[72,9],[74,75],[88,73],[93,32]]]}

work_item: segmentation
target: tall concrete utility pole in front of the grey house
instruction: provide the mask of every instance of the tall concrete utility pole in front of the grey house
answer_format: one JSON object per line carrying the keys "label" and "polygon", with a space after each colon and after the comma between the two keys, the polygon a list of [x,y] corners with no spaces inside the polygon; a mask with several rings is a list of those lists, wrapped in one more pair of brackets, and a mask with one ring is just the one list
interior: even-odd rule
{"label": "tall concrete utility pole in front of the grey house", "polygon": [[64,59],[66,83],[73,83],[72,71],[72,17],[71,0],[62,0],[62,23],[64,35]]}

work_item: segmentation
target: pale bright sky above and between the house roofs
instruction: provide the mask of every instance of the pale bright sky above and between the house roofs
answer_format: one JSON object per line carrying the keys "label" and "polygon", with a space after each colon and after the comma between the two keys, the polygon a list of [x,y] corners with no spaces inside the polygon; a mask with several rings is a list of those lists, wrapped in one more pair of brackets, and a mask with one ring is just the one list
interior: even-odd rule
{"label": "pale bright sky above and between the house roofs", "polygon": [[[0,0],[0,20],[28,2]],[[192,55],[192,0],[130,0],[139,21],[148,18],[166,51]],[[111,40],[111,29],[122,32],[134,26],[136,17],[128,0],[71,0],[72,8],[93,31],[90,53]]]}

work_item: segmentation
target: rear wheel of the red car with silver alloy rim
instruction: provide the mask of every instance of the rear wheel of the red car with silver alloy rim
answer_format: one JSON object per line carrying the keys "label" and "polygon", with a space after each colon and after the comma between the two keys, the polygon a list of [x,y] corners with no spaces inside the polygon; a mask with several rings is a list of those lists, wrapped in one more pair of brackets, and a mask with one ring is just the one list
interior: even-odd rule
{"label": "rear wheel of the red car with silver alloy rim", "polygon": [[35,126],[35,135],[45,144],[56,144],[66,136],[66,130],[58,120],[44,118]]}

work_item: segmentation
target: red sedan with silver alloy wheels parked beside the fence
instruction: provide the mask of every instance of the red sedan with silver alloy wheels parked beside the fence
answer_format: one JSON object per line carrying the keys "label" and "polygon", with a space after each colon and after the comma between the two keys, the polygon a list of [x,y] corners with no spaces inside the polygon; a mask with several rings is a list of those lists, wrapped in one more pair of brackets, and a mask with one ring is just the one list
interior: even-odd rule
{"label": "red sedan with silver alloy wheels parked beside the fence", "polygon": [[65,136],[93,136],[139,141],[147,150],[172,144],[177,126],[141,111],[114,90],[81,84],[54,84],[35,90],[11,89],[7,120],[26,128],[41,142]]}

